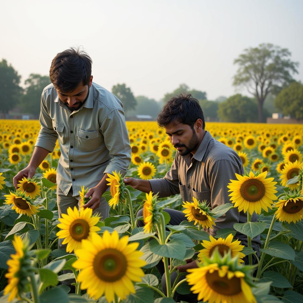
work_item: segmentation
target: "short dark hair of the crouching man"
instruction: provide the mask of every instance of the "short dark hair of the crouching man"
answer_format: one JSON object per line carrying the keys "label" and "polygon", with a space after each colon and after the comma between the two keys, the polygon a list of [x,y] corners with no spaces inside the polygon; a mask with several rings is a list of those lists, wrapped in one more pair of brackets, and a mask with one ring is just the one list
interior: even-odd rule
{"label": "short dark hair of the crouching man", "polygon": [[198,100],[184,92],[175,95],[164,105],[157,122],[160,127],[165,127],[171,122],[178,122],[188,124],[193,128],[198,119],[202,120],[202,127],[205,129],[204,115]]}

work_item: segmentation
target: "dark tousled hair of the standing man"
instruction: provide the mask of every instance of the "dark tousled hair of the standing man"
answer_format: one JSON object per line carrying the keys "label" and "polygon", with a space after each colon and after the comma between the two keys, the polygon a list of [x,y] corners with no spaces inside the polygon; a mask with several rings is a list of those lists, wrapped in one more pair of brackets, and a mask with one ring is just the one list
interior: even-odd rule
{"label": "dark tousled hair of the standing man", "polygon": [[49,70],[52,84],[61,93],[72,92],[81,83],[88,85],[91,75],[92,59],[79,47],[58,53]]}

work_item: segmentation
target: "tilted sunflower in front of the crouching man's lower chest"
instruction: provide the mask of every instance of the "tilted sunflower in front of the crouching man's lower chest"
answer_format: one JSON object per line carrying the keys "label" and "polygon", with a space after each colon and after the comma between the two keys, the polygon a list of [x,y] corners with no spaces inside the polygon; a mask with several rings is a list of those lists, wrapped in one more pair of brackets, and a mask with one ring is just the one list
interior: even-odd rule
{"label": "tilted sunflower in front of the crouching man's lower chest", "polygon": [[195,225],[198,223],[203,228],[212,228],[215,224],[214,214],[211,213],[210,208],[206,205],[206,201],[200,202],[195,197],[192,197],[193,202],[184,202],[183,212],[186,214],[189,222],[195,221]]}

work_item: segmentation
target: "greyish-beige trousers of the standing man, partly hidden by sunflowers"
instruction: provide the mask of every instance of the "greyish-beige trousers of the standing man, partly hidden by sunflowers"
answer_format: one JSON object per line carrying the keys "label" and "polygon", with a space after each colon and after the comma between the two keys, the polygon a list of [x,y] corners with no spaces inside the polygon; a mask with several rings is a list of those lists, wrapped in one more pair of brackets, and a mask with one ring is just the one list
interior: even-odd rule
{"label": "greyish-beige trousers of the standing man, partly hidden by sunflowers", "polygon": [[[59,218],[62,218],[62,214],[67,214],[67,209],[69,207],[71,207],[72,209],[74,209],[74,207],[76,206],[77,208],[79,208],[80,206],[80,195],[73,197],[73,190],[72,187],[70,189],[70,191],[68,192],[67,195],[64,194],[64,192],[59,188],[59,186],[57,186],[57,205],[58,205],[58,213],[59,213]],[[93,211],[93,214],[95,213],[99,213],[101,219],[105,219],[108,218],[109,215],[109,205],[106,202],[105,198],[101,198],[101,202],[98,208],[96,208]],[[64,239],[59,239],[58,240],[58,248],[59,249],[65,249],[66,250],[66,246],[67,244],[62,245]],[[72,272],[69,270],[64,270],[63,271],[65,274]],[[71,279],[71,280],[65,280],[63,281],[64,284],[72,284],[73,282],[75,282],[75,280]]]}

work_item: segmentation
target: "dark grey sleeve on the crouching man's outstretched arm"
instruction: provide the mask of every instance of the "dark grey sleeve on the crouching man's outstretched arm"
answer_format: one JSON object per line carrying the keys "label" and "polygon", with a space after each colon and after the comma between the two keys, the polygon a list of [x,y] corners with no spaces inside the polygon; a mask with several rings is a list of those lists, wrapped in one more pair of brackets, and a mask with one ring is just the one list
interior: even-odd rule
{"label": "dark grey sleeve on the crouching man's outstretched arm", "polygon": [[169,197],[180,193],[178,177],[178,153],[168,171],[163,178],[148,180],[153,193],[159,193],[159,198]]}

